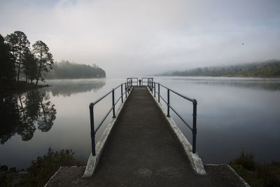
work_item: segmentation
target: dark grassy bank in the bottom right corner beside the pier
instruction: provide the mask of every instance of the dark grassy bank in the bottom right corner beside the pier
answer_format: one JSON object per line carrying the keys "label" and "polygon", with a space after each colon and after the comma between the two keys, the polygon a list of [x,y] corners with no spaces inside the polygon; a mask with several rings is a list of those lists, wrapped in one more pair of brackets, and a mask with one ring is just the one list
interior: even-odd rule
{"label": "dark grassy bank in the bottom right corner beside the pier", "polygon": [[280,162],[256,162],[253,152],[242,149],[239,158],[229,162],[229,165],[252,187],[280,186]]}

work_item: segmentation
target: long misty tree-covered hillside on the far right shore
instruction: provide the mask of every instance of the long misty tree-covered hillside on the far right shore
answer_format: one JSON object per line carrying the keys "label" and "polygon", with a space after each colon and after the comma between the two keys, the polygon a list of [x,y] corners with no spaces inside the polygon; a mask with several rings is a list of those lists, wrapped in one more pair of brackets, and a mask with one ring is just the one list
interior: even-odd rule
{"label": "long misty tree-covered hillside on the far right shore", "polygon": [[280,77],[280,60],[239,64],[225,67],[204,67],[174,71],[163,76],[237,76],[237,77]]}

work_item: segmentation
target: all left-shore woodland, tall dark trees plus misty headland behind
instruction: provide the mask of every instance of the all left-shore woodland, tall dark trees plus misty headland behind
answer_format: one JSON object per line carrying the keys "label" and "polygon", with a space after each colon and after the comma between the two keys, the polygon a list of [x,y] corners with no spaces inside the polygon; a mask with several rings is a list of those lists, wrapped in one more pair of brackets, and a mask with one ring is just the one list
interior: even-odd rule
{"label": "all left-shore woodland, tall dark trees plus misty headland behind", "polygon": [[24,32],[0,34],[0,90],[31,88],[44,78],[97,78],[105,71],[95,64],[54,63],[50,49],[43,41],[32,46]]}

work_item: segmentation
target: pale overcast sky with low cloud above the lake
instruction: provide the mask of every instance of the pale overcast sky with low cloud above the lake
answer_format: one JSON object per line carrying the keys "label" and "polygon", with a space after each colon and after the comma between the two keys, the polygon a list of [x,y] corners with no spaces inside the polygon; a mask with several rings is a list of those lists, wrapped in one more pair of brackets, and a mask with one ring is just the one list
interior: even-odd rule
{"label": "pale overcast sky with low cloud above the lake", "polygon": [[0,0],[0,18],[108,77],[280,59],[279,0]]}

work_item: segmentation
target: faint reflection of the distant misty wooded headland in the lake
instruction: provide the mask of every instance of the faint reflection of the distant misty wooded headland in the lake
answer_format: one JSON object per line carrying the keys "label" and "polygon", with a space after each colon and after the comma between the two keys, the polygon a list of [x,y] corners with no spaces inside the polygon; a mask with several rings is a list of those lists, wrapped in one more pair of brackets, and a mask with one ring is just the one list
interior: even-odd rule
{"label": "faint reflection of the distant misty wooded headland in the lake", "polygon": [[69,97],[72,94],[79,92],[90,92],[101,89],[105,85],[106,79],[76,79],[76,80],[48,80],[46,83],[51,86],[43,88],[47,92],[52,92],[53,96],[62,95],[63,97]]}

